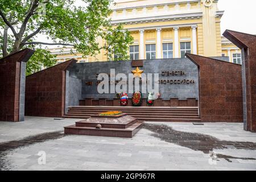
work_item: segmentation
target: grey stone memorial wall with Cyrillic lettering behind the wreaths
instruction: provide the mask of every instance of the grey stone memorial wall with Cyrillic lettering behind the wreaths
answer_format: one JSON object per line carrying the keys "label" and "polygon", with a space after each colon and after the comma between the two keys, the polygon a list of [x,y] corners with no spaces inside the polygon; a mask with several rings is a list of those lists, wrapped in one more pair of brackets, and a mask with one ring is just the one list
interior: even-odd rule
{"label": "grey stone memorial wall with Cyrillic lettering behind the wreaths", "polygon": [[[143,71],[146,76],[148,76],[147,73],[152,73],[153,89],[155,86],[154,75],[158,74],[159,79],[156,82],[159,83],[159,93],[161,94],[161,98],[163,100],[170,100],[170,98],[178,98],[179,100],[196,98],[196,100],[198,100],[199,71],[197,65],[192,63],[191,60],[187,58],[143,60],[141,67],[138,68],[139,71]],[[108,100],[113,100],[115,98],[115,93],[110,93],[110,83],[109,93],[99,94],[97,92],[97,86],[100,82],[99,80],[97,80],[98,75],[100,73],[106,73],[110,76],[110,69],[115,69],[115,76],[118,73],[124,73],[128,79],[128,75],[132,74],[132,71],[136,71],[137,66],[133,67],[131,61],[107,61],[73,64],[72,67],[69,68],[69,98],[93,98],[96,100],[99,98],[106,98]],[[81,86],[80,82],[79,85],[77,85],[79,88],[81,88],[81,96],[79,96],[79,94],[76,94],[76,96],[72,95],[71,97],[71,94],[74,93],[72,91],[73,89],[76,90],[75,93],[77,93],[77,79],[81,81]],[[72,80],[76,81],[73,82]],[[115,84],[117,84],[119,81],[121,80],[116,79]],[[142,83],[140,84],[140,91],[142,91],[141,86]],[[137,90],[133,88],[133,91]],[[142,94],[143,98],[147,97],[147,93]],[[128,95],[129,98],[131,98],[132,93],[129,93]],[[69,103],[69,105],[72,104]]]}

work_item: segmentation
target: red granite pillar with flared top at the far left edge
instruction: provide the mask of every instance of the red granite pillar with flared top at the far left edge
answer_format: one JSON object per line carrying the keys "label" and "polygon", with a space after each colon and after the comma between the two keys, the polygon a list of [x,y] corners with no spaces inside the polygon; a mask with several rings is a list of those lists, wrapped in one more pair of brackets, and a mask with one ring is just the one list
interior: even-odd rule
{"label": "red granite pillar with flared top at the far left edge", "polygon": [[23,121],[26,62],[31,49],[0,59],[0,121]]}

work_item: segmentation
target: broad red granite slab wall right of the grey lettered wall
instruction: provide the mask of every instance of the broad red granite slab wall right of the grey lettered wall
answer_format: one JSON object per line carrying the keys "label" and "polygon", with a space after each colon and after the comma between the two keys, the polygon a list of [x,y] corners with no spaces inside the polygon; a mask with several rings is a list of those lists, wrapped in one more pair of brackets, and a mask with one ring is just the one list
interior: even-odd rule
{"label": "broad red granite slab wall right of the grey lettered wall", "polygon": [[202,122],[242,122],[242,68],[187,53],[199,67],[199,109]]}

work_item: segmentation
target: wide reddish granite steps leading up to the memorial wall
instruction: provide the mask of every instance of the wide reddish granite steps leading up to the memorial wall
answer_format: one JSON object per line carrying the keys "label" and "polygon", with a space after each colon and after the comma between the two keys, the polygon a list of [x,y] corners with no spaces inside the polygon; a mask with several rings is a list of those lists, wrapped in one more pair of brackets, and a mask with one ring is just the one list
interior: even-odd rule
{"label": "wide reddish granite steps leading up to the memorial wall", "polygon": [[139,121],[200,122],[198,107],[71,106],[64,118],[87,119],[90,115],[118,110]]}

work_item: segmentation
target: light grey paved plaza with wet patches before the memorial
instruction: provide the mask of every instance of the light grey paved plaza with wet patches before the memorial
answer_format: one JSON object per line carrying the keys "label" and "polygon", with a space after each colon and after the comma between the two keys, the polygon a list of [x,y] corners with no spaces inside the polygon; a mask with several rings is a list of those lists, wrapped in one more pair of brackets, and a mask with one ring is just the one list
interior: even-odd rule
{"label": "light grey paved plaza with wet patches before the memorial", "polygon": [[0,169],[256,169],[256,134],[243,131],[242,123],[145,122],[133,138],[64,135],[63,126],[80,120],[0,122]]}

